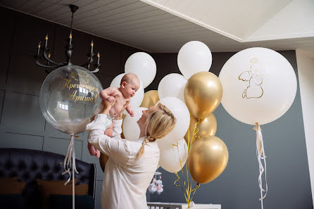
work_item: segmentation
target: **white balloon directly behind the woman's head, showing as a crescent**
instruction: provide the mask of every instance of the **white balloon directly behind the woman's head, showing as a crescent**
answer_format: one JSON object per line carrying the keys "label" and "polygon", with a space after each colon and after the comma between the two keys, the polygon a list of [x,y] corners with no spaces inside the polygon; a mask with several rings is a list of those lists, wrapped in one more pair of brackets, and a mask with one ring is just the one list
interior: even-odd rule
{"label": "white balloon directly behind the woman's head, showing as a crescent", "polygon": [[172,96],[165,97],[158,101],[158,103],[159,102],[166,106],[172,114],[175,115],[177,120],[172,131],[167,134],[167,136],[157,140],[159,148],[165,148],[175,144],[177,141],[180,141],[180,139],[184,137],[185,133],[187,133],[190,120],[189,109],[183,101]]}

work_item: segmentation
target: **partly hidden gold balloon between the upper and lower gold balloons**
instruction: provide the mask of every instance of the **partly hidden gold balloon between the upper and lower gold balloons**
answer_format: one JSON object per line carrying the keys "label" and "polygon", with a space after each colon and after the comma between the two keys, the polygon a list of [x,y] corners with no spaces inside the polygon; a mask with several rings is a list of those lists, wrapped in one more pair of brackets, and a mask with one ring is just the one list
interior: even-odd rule
{"label": "partly hidden gold balloon between the upper and lower gold balloons", "polygon": [[[189,122],[189,131],[187,131],[187,134],[185,134],[184,139],[185,141],[188,140],[191,142],[194,127],[196,125],[197,118],[194,118],[191,115],[191,120]],[[195,132],[199,130],[199,132],[196,133],[196,136],[198,137],[206,137],[206,136],[213,136],[216,134],[217,131],[217,120],[213,113],[209,113],[206,118],[200,119],[199,124],[196,126]],[[189,138],[188,138],[189,137]],[[193,141],[195,138],[193,139]]]}

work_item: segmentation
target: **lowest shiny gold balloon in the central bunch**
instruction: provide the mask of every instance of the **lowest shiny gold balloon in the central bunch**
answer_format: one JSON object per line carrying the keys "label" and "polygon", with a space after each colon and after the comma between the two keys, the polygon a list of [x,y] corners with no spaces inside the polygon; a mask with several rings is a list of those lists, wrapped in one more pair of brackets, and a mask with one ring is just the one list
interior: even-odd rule
{"label": "lowest shiny gold balloon in the central bunch", "polygon": [[196,182],[206,184],[225,170],[228,158],[225,142],[215,136],[202,137],[189,150],[189,172]]}

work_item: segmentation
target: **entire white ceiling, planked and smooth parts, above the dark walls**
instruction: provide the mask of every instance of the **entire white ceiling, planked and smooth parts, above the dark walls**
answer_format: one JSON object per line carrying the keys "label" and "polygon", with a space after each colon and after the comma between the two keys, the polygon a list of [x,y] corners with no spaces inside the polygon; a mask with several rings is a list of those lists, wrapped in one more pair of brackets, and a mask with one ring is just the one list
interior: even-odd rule
{"label": "entire white ceiling, planked and smooth parts, above the dark walls", "polygon": [[[191,40],[204,42],[211,51],[240,51],[253,46],[314,50],[313,2],[2,0],[0,4],[67,26],[71,16],[68,4],[75,4],[80,7],[74,15],[75,29],[145,51],[170,53]],[[294,12],[294,8],[298,11]],[[294,23],[290,20],[278,29],[277,25],[284,25],[287,17]],[[303,25],[297,20],[302,20]]]}

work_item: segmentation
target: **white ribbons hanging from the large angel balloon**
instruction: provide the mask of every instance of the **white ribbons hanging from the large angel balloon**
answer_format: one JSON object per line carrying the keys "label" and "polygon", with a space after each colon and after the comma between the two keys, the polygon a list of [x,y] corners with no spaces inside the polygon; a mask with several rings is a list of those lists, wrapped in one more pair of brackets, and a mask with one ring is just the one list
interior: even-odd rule
{"label": "white ribbons hanging from the large angel balloon", "polygon": [[[267,177],[266,177],[266,156],[265,156],[265,151],[264,151],[262,129],[260,129],[260,125],[258,122],[256,122],[256,126],[254,127],[254,130],[256,130],[256,156],[258,159],[258,165],[259,165],[259,170],[260,170],[260,175],[258,176],[258,185],[260,186],[260,199],[259,200],[263,209],[263,199],[265,198],[268,191]],[[262,175],[264,171],[265,171],[266,190],[263,189],[263,180],[262,180]],[[263,192],[265,192],[265,194],[263,194]]]}

